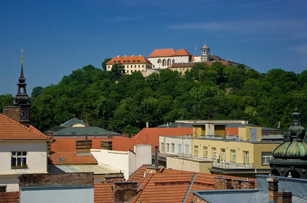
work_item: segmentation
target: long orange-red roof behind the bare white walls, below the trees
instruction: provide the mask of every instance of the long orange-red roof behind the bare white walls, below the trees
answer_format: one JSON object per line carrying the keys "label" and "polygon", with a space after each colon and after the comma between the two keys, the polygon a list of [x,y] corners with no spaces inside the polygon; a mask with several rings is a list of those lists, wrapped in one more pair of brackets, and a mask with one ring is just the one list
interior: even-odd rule
{"label": "long orange-red roof behind the bare white walls, below the trees", "polygon": [[[165,136],[185,136],[192,134],[192,128],[144,128],[133,138],[114,137],[107,138],[88,138],[92,140],[92,148],[100,149],[100,140],[111,140],[113,150],[118,151],[134,151],[136,144],[151,144],[152,151],[155,150],[155,145],[159,146],[159,135]],[[85,138],[54,138],[51,148],[57,152],[76,151],[76,140]]]}

